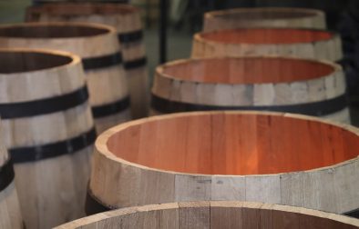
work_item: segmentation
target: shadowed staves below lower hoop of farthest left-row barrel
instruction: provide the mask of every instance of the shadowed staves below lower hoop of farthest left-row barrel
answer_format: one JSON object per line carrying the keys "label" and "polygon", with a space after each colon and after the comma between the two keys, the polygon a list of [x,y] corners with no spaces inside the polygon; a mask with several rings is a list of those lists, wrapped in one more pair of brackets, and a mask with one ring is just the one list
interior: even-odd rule
{"label": "shadowed staves below lower hoop of farthest left-row barrel", "polygon": [[149,83],[146,67],[127,70],[133,118],[149,115]]}

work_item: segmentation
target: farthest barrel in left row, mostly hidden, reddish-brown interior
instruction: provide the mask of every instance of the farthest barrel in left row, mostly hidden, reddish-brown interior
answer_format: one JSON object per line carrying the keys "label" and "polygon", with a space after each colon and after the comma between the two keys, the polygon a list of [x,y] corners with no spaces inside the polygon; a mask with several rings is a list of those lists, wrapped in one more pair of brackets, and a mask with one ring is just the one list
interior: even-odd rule
{"label": "farthest barrel in left row, mostly hidden, reddish-brown interior", "polygon": [[138,118],[148,115],[148,69],[138,8],[132,5],[88,2],[36,5],[27,8],[26,20],[29,22],[92,22],[115,27],[128,74],[132,116]]}

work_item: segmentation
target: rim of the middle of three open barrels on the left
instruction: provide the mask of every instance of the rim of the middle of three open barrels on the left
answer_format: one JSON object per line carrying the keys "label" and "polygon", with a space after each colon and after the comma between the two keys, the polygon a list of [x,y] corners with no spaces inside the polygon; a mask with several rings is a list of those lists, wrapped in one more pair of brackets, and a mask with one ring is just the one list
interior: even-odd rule
{"label": "rim of the middle of three open barrels on the left", "polygon": [[111,25],[103,25],[98,23],[88,23],[88,22],[29,22],[29,23],[15,23],[15,24],[4,24],[0,25],[1,29],[7,28],[29,28],[29,27],[51,27],[51,26],[78,26],[84,28],[94,28],[98,30],[104,31],[104,33],[100,33],[98,35],[78,35],[72,37],[26,37],[26,36],[11,36],[11,35],[0,35],[0,39],[11,38],[14,40],[40,40],[40,39],[47,39],[50,41],[53,40],[77,40],[77,39],[89,39],[89,38],[96,38],[100,36],[107,36],[107,35],[117,35],[117,30],[115,27]]}

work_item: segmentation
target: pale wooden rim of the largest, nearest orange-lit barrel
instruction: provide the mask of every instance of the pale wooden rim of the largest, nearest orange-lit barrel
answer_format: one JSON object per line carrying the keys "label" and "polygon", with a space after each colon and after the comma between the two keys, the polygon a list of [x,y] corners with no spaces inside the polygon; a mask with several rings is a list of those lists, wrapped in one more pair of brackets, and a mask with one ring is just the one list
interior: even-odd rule
{"label": "pale wooden rim of the largest, nearest orange-lit barrel", "polygon": [[125,164],[130,167],[138,168],[140,170],[147,170],[147,171],[153,171],[153,172],[159,172],[164,174],[177,174],[177,175],[190,175],[190,176],[217,176],[217,177],[266,177],[266,176],[277,176],[282,174],[303,174],[303,173],[313,173],[318,171],[325,171],[325,170],[333,170],[337,167],[344,166],[346,164],[353,164],[355,161],[359,161],[359,154],[349,160],[346,160],[344,162],[333,164],[329,166],[323,166],[320,168],[313,168],[310,170],[302,170],[302,171],[295,171],[295,172],[288,172],[288,173],[277,173],[277,174],[190,174],[190,173],[183,173],[183,172],[177,172],[177,171],[170,171],[170,170],[163,170],[158,168],[149,167],[142,164],[136,164],[129,162],[125,159],[117,157],[115,154],[111,153],[108,149],[108,139],[113,135],[117,134],[120,131],[123,131],[127,129],[128,127],[135,126],[138,124],[143,124],[150,121],[158,121],[158,120],[166,120],[176,117],[184,117],[184,116],[194,116],[194,115],[216,115],[216,114],[222,114],[222,115],[273,115],[273,116],[282,116],[282,117],[289,117],[294,119],[301,119],[306,121],[313,121],[321,124],[330,124],[334,127],[341,128],[345,131],[351,132],[352,134],[355,134],[359,137],[359,128],[354,127],[350,124],[340,124],[334,121],[330,121],[327,119],[322,119],[315,116],[308,116],[308,115],[297,115],[297,114],[290,114],[290,113],[280,113],[280,112],[258,112],[258,111],[210,111],[210,112],[187,112],[187,113],[175,113],[175,114],[169,114],[169,115],[158,115],[158,116],[152,116],[147,118],[142,118],[134,121],[130,121],[124,124],[118,124],[114,127],[109,128],[107,131],[103,132],[102,134],[97,136],[97,140],[95,142],[96,147],[96,154],[101,154],[102,156],[105,156],[106,159],[119,163],[119,164]]}

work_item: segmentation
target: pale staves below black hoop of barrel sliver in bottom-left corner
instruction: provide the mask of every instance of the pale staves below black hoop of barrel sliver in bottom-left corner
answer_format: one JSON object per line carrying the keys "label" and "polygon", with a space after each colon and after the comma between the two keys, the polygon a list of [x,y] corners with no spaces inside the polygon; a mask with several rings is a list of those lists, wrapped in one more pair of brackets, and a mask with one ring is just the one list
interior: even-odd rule
{"label": "pale staves below black hoop of barrel sliver in bottom-left corner", "polygon": [[0,229],[7,228],[24,228],[14,182],[0,192]]}

